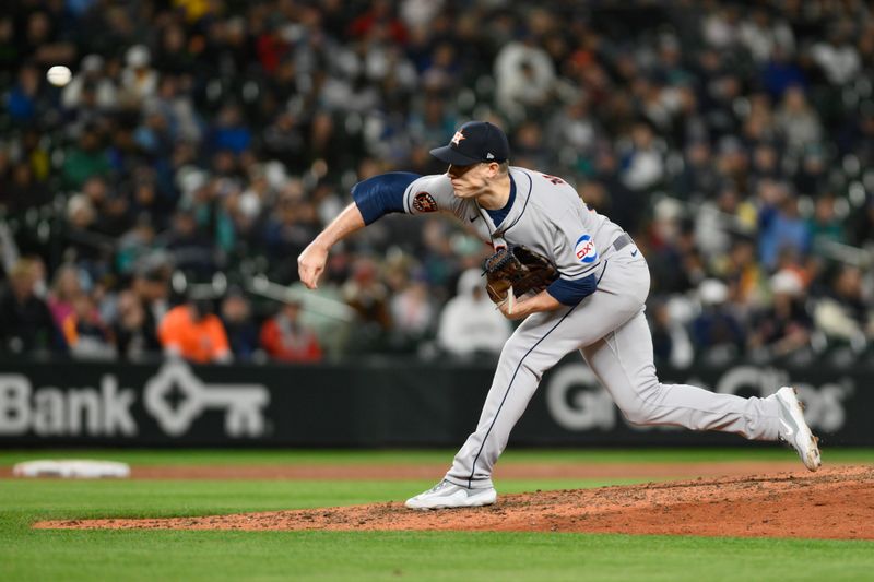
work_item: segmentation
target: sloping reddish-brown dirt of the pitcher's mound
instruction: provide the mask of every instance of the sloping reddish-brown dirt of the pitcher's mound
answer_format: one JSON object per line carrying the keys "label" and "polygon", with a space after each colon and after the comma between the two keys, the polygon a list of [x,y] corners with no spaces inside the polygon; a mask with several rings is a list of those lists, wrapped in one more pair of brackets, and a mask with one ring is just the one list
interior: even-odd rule
{"label": "sloping reddish-brown dirt of the pitcher's mound", "polygon": [[51,521],[34,526],[602,532],[874,539],[874,467],[842,466],[818,473],[499,495],[496,506],[475,509],[411,511],[400,502],[389,502],[205,518]]}

